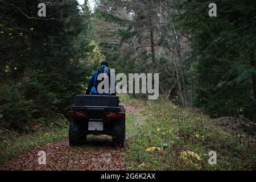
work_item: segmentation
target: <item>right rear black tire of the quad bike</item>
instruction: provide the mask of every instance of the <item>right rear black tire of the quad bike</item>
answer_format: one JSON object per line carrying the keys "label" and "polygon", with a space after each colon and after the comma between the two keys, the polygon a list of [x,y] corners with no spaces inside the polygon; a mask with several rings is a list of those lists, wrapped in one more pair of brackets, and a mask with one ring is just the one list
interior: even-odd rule
{"label": "right rear black tire of the quad bike", "polygon": [[120,122],[112,123],[112,141],[115,146],[125,145],[125,117]]}

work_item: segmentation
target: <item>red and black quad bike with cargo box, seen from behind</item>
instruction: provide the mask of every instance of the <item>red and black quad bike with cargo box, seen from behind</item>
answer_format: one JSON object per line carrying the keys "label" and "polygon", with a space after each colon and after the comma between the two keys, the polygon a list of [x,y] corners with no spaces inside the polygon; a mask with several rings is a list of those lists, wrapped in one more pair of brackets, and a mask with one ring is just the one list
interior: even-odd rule
{"label": "red and black quad bike with cargo box, seen from behind", "polygon": [[87,135],[110,135],[115,146],[125,142],[125,107],[117,96],[77,95],[69,113],[69,145],[79,146]]}

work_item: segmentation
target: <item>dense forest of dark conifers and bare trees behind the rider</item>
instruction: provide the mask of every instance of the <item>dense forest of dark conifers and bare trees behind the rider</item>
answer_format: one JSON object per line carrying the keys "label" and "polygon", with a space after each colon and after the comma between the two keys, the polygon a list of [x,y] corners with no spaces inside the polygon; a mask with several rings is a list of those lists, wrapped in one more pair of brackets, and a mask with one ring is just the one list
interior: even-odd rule
{"label": "dense forest of dark conifers and bare trees behind the rider", "polygon": [[1,0],[1,130],[61,126],[104,59],[117,73],[160,73],[161,97],[177,105],[255,122],[256,1],[214,2],[217,17],[201,0],[98,0],[93,11]]}

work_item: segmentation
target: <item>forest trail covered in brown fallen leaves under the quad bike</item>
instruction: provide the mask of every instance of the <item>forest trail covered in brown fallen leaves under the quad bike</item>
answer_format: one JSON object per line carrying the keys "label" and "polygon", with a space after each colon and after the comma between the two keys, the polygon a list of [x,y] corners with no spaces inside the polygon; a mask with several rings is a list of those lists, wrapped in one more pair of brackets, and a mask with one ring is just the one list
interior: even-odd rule
{"label": "forest trail covered in brown fallen leaves under the quad bike", "polygon": [[[127,104],[126,115],[139,115],[137,104]],[[137,118],[137,117],[135,117]],[[129,118],[126,118],[129,121]],[[24,151],[18,158],[0,163],[0,170],[124,170],[125,156],[129,147],[129,131],[134,127],[126,123],[125,147],[116,148],[112,137],[89,135],[84,144],[70,147],[68,138]],[[128,132],[127,132],[128,131]],[[46,152],[46,165],[38,164],[38,152]]]}

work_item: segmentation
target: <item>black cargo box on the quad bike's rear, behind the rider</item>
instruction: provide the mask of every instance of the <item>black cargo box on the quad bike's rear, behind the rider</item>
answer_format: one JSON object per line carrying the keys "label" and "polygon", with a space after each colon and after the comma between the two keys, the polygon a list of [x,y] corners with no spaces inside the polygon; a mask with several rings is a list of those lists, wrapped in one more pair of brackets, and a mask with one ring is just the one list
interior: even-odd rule
{"label": "black cargo box on the quad bike's rear, behind the rider", "polygon": [[77,95],[75,97],[76,106],[99,106],[99,107],[118,107],[117,96],[98,96],[98,95]]}

